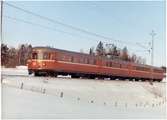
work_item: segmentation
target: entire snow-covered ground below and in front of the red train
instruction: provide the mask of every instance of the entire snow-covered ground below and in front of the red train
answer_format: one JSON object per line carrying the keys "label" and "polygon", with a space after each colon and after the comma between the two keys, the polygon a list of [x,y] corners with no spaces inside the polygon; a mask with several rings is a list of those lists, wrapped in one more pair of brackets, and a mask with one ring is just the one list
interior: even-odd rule
{"label": "entire snow-covered ground below and in front of the red train", "polygon": [[3,118],[166,118],[164,82],[28,76],[2,69]]}

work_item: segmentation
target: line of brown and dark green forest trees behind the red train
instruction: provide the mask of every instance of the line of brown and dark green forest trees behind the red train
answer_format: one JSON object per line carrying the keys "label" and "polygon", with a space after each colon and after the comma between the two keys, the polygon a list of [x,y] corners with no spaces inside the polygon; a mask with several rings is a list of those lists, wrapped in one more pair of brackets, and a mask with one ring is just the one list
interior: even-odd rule
{"label": "line of brown and dark green forest trees behind the red train", "polygon": [[[27,60],[31,57],[31,52],[31,44],[21,44],[17,48],[8,47],[6,44],[1,44],[1,65],[5,67],[26,65]],[[113,44],[110,46],[104,46],[101,41],[96,46],[95,50],[93,47],[90,48],[89,54],[140,64],[145,64],[146,62],[145,59],[135,54],[130,56],[127,47],[119,49]]]}

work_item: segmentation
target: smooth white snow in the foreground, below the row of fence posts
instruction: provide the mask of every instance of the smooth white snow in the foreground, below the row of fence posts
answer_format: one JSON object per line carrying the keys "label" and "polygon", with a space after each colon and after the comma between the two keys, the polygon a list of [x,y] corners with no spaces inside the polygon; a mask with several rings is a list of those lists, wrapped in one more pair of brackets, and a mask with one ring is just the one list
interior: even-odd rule
{"label": "smooth white snow in the foreground, below the row of fence posts", "polygon": [[114,118],[114,119],[165,119],[165,106],[123,107],[108,103],[97,105],[96,102],[72,100],[37,92],[3,86],[3,119],[55,119],[55,118]]}

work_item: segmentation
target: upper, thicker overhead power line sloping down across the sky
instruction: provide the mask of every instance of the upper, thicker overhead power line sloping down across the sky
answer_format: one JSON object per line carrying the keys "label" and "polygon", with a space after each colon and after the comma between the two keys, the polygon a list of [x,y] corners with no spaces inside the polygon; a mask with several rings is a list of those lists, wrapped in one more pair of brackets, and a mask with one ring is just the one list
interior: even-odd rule
{"label": "upper, thicker overhead power line sloping down across the sky", "polygon": [[74,27],[74,26],[72,26],[72,25],[68,25],[68,24],[62,23],[62,22],[60,22],[60,21],[50,19],[50,18],[48,18],[48,17],[45,17],[45,16],[42,16],[42,15],[36,14],[36,13],[34,13],[34,12],[25,10],[25,9],[23,9],[23,8],[17,7],[17,6],[15,6],[15,5],[12,5],[12,4],[9,4],[9,3],[6,3],[6,2],[5,2],[5,4],[8,5],[8,6],[10,6],[10,7],[13,7],[13,8],[15,8],[15,9],[17,9],[17,10],[21,10],[21,11],[23,11],[23,12],[25,12],[25,13],[28,13],[28,14],[31,14],[31,15],[33,15],[33,16],[39,17],[39,18],[41,18],[41,19],[50,21],[50,22],[52,22],[52,23],[54,23],[54,24],[60,24],[60,25],[62,25],[62,26],[64,26],[64,27],[73,29],[73,30],[75,30],[75,31],[79,31],[79,32],[82,32],[82,33],[85,33],[85,34],[88,34],[88,35],[91,35],[91,36],[96,36],[96,37],[98,37],[98,38],[103,38],[103,39],[105,39],[105,40],[112,40],[112,41],[115,41],[115,42],[125,43],[125,44],[128,44],[128,45],[129,45],[129,44],[131,44],[131,45],[136,45],[136,43],[132,43],[132,42],[128,42],[128,41],[115,40],[115,39],[110,38],[110,37],[106,37],[106,36],[103,36],[103,35],[100,35],[100,34],[97,34],[97,33],[93,33],[93,32],[90,32],[90,31],[87,31],[87,30],[78,28],[78,27]]}

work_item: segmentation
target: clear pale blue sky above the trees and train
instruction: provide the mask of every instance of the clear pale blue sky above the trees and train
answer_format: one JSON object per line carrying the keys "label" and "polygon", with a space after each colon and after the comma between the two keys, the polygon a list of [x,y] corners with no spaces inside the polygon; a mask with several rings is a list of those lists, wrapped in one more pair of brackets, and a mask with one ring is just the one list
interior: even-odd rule
{"label": "clear pale blue sky above the trees and train", "polygon": [[[34,13],[63,23],[76,26],[116,40],[139,42],[148,46],[152,29],[155,36],[154,63],[165,65],[165,2],[8,2]],[[70,36],[61,32],[44,29],[35,25],[12,21],[4,17],[4,43],[18,46],[29,43],[33,46],[53,46],[60,49],[87,52],[98,41],[114,43],[122,48],[127,46],[130,53],[146,58],[150,56],[144,49],[130,44],[83,34],[59,24],[53,24],[4,4],[4,15],[23,19],[76,34]]]}

